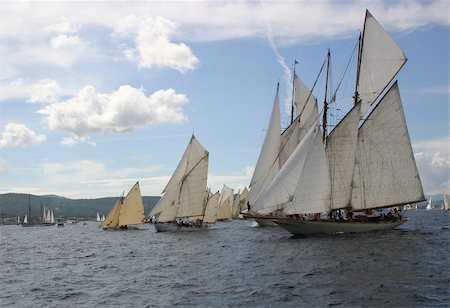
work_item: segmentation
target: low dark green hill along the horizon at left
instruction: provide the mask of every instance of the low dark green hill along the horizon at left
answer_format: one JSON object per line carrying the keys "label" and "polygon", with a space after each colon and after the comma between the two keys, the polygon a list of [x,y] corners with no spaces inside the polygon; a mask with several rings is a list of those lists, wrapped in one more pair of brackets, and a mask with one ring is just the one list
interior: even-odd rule
{"label": "low dark green hill along the horizon at left", "polygon": [[[41,204],[46,209],[51,209],[55,218],[77,217],[92,219],[100,215],[108,214],[117,200],[117,197],[106,197],[98,199],[69,199],[56,195],[28,195],[28,194],[0,194],[0,216],[23,218],[28,214],[28,198],[31,204],[31,216],[41,215]],[[143,196],[145,213],[148,214],[155,206],[160,197]]]}

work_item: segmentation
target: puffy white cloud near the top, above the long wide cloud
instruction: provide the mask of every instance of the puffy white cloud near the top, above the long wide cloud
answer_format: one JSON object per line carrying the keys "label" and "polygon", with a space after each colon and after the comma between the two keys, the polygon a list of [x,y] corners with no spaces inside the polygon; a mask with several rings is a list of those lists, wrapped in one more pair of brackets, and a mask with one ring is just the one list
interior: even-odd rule
{"label": "puffy white cloud near the top, above the long wide cloud", "polygon": [[140,68],[169,67],[184,73],[193,70],[199,60],[187,45],[171,41],[176,30],[177,26],[163,17],[129,16],[118,22],[114,35],[133,38],[135,46],[126,47],[124,53]]}

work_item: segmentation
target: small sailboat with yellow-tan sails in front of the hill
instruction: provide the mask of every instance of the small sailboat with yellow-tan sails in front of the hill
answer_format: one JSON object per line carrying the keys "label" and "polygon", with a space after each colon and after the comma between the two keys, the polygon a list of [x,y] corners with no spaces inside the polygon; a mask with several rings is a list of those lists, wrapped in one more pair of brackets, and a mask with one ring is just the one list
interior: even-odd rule
{"label": "small sailboat with yellow-tan sails in front of the hill", "polygon": [[137,229],[135,225],[142,224],[144,219],[141,189],[139,182],[136,182],[126,197],[121,196],[117,199],[100,227],[104,230]]}

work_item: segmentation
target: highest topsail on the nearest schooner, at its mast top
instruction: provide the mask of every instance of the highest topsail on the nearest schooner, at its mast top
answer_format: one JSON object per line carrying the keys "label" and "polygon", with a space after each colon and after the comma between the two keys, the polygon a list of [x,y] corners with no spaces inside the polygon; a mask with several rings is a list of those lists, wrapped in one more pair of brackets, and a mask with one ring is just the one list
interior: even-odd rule
{"label": "highest topsail on the nearest schooner, at its mast top", "polygon": [[406,60],[402,49],[389,33],[366,11],[358,84],[361,114],[394,79]]}

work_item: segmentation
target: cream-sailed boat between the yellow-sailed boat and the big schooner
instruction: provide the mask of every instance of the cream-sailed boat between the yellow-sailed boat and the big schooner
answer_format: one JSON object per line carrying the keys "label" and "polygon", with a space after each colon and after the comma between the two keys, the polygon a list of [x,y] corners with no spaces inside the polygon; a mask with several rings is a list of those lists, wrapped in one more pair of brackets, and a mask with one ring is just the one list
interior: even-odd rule
{"label": "cream-sailed boat between the yellow-sailed boat and the big schooner", "polygon": [[217,219],[219,194],[206,188],[209,153],[192,135],[163,196],[148,215],[157,231],[199,231]]}

